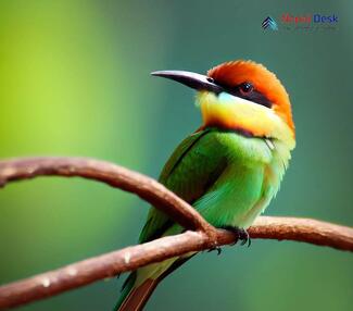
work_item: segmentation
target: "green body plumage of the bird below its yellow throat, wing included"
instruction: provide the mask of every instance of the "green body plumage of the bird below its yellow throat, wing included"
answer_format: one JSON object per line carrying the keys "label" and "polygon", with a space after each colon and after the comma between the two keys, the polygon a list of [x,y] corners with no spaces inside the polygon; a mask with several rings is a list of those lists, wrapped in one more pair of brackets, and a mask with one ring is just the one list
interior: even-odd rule
{"label": "green body plumage of the bird below its yellow throat, wing included", "polygon": [[[179,145],[160,182],[191,203],[212,225],[247,228],[277,192],[289,158],[289,149],[279,140],[209,128]],[[151,208],[139,241],[181,231],[167,215]],[[139,269],[129,278],[128,287],[159,278],[176,260]]]}

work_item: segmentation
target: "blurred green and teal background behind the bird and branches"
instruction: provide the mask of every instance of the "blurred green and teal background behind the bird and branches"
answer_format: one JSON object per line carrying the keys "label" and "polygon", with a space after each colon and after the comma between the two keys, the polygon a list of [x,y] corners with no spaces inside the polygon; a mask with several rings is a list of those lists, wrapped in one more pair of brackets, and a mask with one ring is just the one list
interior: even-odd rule
{"label": "blurred green and teal background behind the bird and branches", "polygon": [[[353,226],[353,2],[1,1],[0,158],[84,156],[157,177],[200,125],[193,92],[149,75],[251,59],[277,73],[298,147],[267,215]],[[282,29],[282,13],[336,14]],[[266,16],[279,30],[263,30]],[[38,178],[0,190],[0,284],[135,244],[148,206],[98,183]],[[121,279],[21,310],[110,310]],[[352,253],[299,242],[202,253],[147,310],[352,310]]]}

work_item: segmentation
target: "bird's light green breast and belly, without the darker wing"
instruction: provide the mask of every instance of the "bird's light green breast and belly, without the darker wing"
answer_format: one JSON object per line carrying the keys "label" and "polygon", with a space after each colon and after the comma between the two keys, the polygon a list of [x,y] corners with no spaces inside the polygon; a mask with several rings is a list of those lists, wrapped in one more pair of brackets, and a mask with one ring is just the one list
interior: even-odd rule
{"label": "bird's light green breast and belly, without the darker wing", "polygon": [[249,227],[276,195],[287,164],[275,142],[239,136],[226,139],[223,151],[228,166],[201,201],[200,211],[216,226]]}

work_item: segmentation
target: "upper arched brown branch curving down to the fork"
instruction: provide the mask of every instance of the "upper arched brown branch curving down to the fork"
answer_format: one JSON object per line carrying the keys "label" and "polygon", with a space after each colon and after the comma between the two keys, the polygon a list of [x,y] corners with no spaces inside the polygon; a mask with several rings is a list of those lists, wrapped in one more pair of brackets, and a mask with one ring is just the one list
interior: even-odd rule
{"label": "upper arched brown branch curving down to the fork", "polygon": [[84,177],[138,195],[186,228],[205,232],[214,228],[186,201],[156,181],[105,161],[86,158],[24,158],[0,161],[0,186],[37,176]]}

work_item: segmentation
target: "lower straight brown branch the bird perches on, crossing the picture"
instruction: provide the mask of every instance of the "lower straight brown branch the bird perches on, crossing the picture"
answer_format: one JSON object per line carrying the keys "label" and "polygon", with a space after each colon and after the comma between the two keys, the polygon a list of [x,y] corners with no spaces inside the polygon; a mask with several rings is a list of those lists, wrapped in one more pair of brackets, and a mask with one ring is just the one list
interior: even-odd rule
{"label": "lower straight brown branch the bird perches on, crossing the picture", "polygon": [[[353,228],[310,219],[260,217],[249,233],[252,238],[305,241],[353,251]],[[229,245],[235,240],[234,234],[217,231],[218,245]],[[1,286],[0,309],[43,299],[189,251],[202,251],[209,248],[209,244],[206,234],[188,231],[184,234],[86,259]]]}

